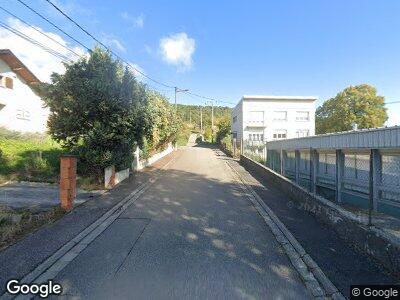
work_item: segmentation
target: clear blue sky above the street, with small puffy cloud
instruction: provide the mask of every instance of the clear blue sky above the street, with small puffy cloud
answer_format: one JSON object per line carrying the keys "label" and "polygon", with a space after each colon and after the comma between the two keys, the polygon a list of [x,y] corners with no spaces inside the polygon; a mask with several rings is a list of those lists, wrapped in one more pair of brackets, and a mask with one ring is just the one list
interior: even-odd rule
{"label": "clear blue sky above the street, with small puffy cloud", "polygon": [[[27,3],[95,45],[44,0]],[[315,95],[321,104],[346,86],[369,83],[387,102],[400,101],[398,0],[55,3],[149,76],[197,94],[232,103],[243,94]],[[16,0],[0,5],[77,46]],[[12,22],[3,12],[0,18]],[[400,124],[400,104],[388,108],[389,124]]]}

